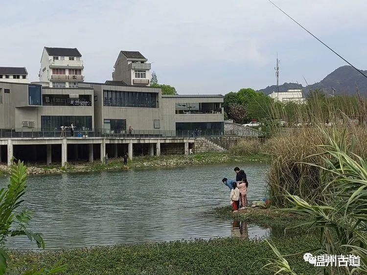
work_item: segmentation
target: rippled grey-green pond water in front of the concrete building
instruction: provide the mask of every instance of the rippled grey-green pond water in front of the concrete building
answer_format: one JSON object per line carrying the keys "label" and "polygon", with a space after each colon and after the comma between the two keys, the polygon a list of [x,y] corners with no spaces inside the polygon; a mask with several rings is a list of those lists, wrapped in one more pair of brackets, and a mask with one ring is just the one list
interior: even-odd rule
{"label": "rippled grey-green pond water in front of the concrete building", "polygon": [[[229,205],[234,165],[102,171],[29,176],[21,207],[34,210],[30,229],[47,250],[191,238],[260,238],[271,229],[216,219],[210,210]],[[264,196],[266,165],[246,164],[248,199]],[[5,186],[7,178],[0,178]],[[26,237],[11,248],[35,249]]]}

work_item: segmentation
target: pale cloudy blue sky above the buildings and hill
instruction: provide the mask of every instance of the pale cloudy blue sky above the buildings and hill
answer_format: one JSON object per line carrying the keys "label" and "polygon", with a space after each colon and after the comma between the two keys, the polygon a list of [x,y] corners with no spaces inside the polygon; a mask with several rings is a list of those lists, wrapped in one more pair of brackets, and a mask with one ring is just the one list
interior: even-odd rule
{"label": "pale cloudy blue sky above the buildings and hill", "polygon": [[[273,0],[367,69],[366,0]],[[38,81],[44,46],[76,47],[86,81],[104,82],[120,50],[138,50],[180,94],[305,86],[346,65],[268,0],[0,0],[0,66]]]}

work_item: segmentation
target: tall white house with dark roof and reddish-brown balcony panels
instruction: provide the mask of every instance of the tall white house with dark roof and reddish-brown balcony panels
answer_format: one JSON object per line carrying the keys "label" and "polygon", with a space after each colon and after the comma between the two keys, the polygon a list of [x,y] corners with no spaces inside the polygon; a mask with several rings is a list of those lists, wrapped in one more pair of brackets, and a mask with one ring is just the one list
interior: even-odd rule
{"label": "tall white house with dark roof and reddish-brown balcony panels", "polygon": [[40,82],[53,88],[78,88],[84,81],[82,55],[77,48],[44,47],[41,57]]}

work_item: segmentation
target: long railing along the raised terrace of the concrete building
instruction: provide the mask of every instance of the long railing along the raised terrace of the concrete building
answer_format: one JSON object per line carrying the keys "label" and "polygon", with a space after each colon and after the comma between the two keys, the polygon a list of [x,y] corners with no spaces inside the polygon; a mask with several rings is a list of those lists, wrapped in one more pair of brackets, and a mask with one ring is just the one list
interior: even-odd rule
{"label": "long railing along the raised terrace of the concrete building", "polygon": [[[74,130],[74,138],[201,138],[223,136],[221,130],[120,130],[92,129]],[[70,138],[67,129],[66,137]],[[0,138],[60,138],[61,129],[46,131],[37,128],[0,129]]]}

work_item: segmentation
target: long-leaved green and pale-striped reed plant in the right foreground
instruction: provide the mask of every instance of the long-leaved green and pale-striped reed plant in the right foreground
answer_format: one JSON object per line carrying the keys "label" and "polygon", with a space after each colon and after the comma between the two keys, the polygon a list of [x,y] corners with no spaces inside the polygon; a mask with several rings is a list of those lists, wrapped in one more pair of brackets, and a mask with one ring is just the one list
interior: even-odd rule
{"label": "long-leaved green and pale-striped reed plant in the right foreground", "polygon": [[[318,146],[322,165],[303,163],[320,172],[323,200],[318,203],[288,193],[285,198],[293,205],[286,209],[312,219],[302,225],[318,232],[319,248],[314,253],[360,257],[360,266],[320,267],[324,274],[367,274],[367,161],[349,151],[346,128],[342,135],[334,128],[332,134],[320,129],[327,139]],[[275,269],[284,268],[282,256],[272,247],[278,260]]]}

